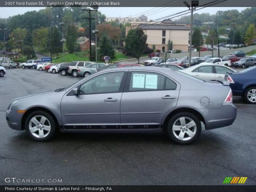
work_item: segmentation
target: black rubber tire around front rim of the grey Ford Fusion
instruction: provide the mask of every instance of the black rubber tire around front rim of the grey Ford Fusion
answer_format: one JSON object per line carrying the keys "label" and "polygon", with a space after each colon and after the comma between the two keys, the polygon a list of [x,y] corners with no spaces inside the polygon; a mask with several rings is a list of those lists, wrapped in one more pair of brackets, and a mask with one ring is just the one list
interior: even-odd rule
{"label": "black rubber tire around front rim of the grey Ford Fusion", "polygon": [[[49,122],[50,122],[50,126],[51,126],[51,130],[49,131],[49,134],[47,136],[45,136],[44,138],[37,138],[36,136],[34,136],[30,130],[29,130],[29,121],[35,117],[35,116],[44,116],[46,117]],[[25,130],[26,130],[26,133],[28,135],[28,137],[32,140],[35,140],[35,141],[48,141],[50,139],[52,139],[52,137],[55,135],[56,133],[56,129],[57,129],[57,126],[56,126],[56,122],[54,121],[54,119],[52,118],[51,115],[49,115],[48,113],[44,112],[44,111],[34,111],[32,113],[30,113],[27,118],[25,119]],[[39,131],[39,130],[38,130]]]}

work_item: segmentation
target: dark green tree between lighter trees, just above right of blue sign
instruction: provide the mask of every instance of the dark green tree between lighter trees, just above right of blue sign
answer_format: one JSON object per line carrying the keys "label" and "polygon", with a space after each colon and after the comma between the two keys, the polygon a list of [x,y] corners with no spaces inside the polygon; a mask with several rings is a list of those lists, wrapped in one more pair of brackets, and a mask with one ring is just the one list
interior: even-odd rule
{"label": "dark green tree between lighter trees, just above right of blue sign", "polygon": [[56,53],[58,55],[61,52],[62,44],[60,42],[61,35],[60,30],[53,26],[49,29],[48,39],[47,39],[47,47],[50,53]]}

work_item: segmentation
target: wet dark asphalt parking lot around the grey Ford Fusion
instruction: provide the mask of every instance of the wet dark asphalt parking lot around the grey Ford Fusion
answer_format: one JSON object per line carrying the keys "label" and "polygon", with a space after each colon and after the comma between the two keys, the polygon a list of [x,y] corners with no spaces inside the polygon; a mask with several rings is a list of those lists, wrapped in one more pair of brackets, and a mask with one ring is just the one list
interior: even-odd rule
{"label": "wet dark asphalt parking lot around the grey Ford Fusion", "polygon": [[25,131],[8,127],[5,111],[11,100],[65,87],[81,77],[6,71],[0,78],[0,185],[8,184],[6,177],[62,179],[63,185],[222,185],[225,177],[237,176],[256,185],[256,106],[240,97],[234,97],[232,126],[202,131],[189,146],[176,145],[164,134],[61,133],[50,142],[35,142]]}

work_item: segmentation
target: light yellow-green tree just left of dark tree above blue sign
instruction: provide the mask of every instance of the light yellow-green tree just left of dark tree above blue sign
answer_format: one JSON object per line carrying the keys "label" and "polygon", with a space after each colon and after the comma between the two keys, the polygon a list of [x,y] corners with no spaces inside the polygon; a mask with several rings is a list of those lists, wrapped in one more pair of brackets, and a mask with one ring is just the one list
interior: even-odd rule
{"label": "light yellow-green tree just left of dark tree above blue sign", "polygon": [[49,28],[46,28],[46,27],[35,29],[32,32],[34,46],[38,47],[42,51],[46,51],[48,33],[49,33]]}

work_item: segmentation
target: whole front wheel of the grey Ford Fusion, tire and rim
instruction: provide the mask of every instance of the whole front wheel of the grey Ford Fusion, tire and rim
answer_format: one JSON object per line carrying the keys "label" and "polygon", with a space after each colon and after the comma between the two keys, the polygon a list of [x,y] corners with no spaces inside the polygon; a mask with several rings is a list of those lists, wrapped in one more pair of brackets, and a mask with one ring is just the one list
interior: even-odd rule
{"label": "whole front wheel of the grey Ford Fusion, tire and rim", "polygon": [[25,130],[33,140],[48,141],[56,132],[56,123],[48,113],[34,111],[25,120]]}

